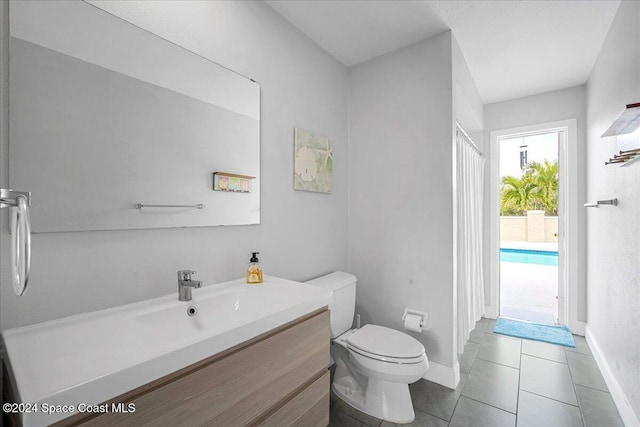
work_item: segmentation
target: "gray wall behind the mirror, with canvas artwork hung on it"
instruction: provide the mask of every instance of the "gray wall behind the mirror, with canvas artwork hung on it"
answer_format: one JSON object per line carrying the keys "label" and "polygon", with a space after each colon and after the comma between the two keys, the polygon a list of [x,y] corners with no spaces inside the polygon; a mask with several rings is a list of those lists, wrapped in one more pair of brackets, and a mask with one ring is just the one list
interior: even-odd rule
{"label": "gray wall behind the mirror, with canvas artwork hung on it", "polygon": [[[196,278],[205,284],[242,277],[251,251],[261,252],[266,274],[290,279],[346,269],[345,67],[263,2],[99,3],[260,83],[261,225],[37,234],[31,289],[17,298],[9,276],[3,209],[0,327],[171,293],[176,290],[175,272],[182,268],[198,271]],[[3,59],[3,70],[5,64]],[[2,77],[5,87],[6,75]],[[7,98],[0,99],[6,119]],[[332,194],[293,190],[293,127],[331,138]],[[2,136],[0,176],[6,183],[5,128]],[[37,204],[32,209],[38,209]]]}

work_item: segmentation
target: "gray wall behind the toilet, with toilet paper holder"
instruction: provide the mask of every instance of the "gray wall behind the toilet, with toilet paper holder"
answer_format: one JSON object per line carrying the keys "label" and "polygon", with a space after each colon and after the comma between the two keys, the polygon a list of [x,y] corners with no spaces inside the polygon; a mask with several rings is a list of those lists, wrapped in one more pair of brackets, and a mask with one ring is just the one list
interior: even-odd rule
{"label": "gray wall behind the toilet, with toilet paper holder", "polygon": [[365,323],[411,332],[453,367],[452,38],[446,32],[349,69],[349,268]]}

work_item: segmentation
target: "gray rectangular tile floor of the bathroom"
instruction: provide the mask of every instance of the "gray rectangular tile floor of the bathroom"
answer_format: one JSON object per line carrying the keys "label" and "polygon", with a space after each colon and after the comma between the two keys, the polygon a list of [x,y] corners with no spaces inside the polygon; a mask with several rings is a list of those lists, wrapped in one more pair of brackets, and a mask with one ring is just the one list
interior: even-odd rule
{"label": "gray rectangular tile floor of the bathroom", "polygon": [[[583,337],[576,348],[493,333],[480,320],[460,355],[455,390],[420,380],[410,386],[416,419],[426,427],[623,426]],[[330,426],[389,427],[332,395]]]}

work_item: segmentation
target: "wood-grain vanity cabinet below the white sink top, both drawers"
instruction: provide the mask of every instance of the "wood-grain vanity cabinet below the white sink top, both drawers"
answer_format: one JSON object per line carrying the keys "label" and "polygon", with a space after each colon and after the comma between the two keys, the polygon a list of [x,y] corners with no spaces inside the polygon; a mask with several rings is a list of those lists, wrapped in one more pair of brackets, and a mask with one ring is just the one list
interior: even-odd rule
{"label": "wood-grain vanity cabinet below the white sink top, both drawers", "polygon": [[326,426],[329,311],[310,313],[56,426]]}

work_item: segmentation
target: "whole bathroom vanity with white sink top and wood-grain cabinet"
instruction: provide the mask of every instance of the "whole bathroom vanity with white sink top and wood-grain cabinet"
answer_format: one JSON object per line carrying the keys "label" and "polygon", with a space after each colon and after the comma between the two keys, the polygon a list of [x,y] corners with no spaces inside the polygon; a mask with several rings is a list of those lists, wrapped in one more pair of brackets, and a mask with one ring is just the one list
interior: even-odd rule
{"label": "whole bathroom vanity with white sink top and wood-grain cabinet", "polygon": [[4,331],[12,420],[326,426],[330,297],[265,276]]}

